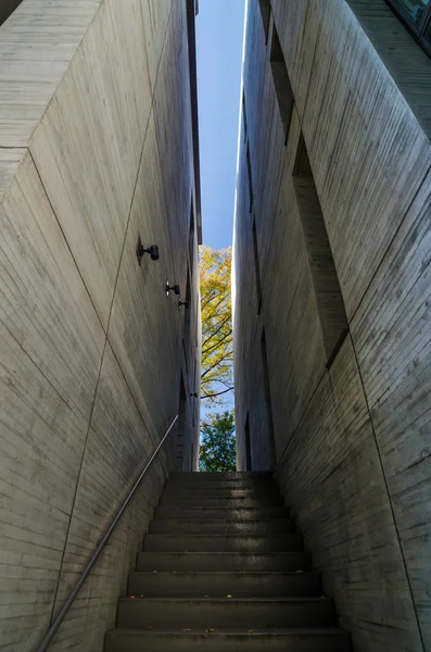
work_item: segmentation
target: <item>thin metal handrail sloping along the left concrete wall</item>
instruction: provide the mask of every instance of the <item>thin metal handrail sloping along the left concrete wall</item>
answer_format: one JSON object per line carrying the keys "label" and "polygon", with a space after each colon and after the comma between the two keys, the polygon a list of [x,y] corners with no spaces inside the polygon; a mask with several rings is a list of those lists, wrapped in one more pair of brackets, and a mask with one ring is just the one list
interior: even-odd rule
{"label": "thin metal handrail sloping along the left concrete wall", "polygon": [[119,509],[119,511],[117,512],[117,515],[115,516],[114,521],[112,522],[109,530],[106,531],[105,536],[103,537],[103,539],[101,540],[101,542],[99,543],[99,546],[97,547],[96,551],[93,552],[90,561],[88,562],[87,566],[85,567],[83,575],[80,576],[80,578],[78,579],[74,590],[72,591],[72,593],[69,594],[69,597],[67,598],[66,602],[64,603],[62,610],[59,612],[59,614],[56,615],[54,622],[52,623],[52,625],[50,626],[50,628],[48,629],[42,642],[40,643],[39,648],[37,649],[37,652],[46,652],[46,650],[48,649],[48,645],[50,644],[50,642],[52,641],[52,639],[54,638],[60,625],[62,624],[64,616],[67,614],[68,610],[71,609],[76,595],[79,593],[84,582],[86,581],[87,577],[89,576],[89,574],[91,573],[96,562],[98,561],[100,553],[102,552],[103,548],[106,546],[107,541],[111,538],[112,532],[114,531],[118,521],[121,519],[124,511],[126,510],[127,505],[129,504],[130,500],[134,498],[134,494],[136,492],[136,490],[138,489],[139,485],[142,481],[143,476],[145,475],[147,471],[150,468],[154,457],[156,456],[156,454],[159,453],[160,449],[162,448],[166,437],[169,435],[169,432],[172,431],[172,429],[174,428],[175,424],[178,421],[178,414],[177,416],[174,418],[174,421],[172,422],[170,426],[168,427],[168,429],[166,430],[162,441],[160,442],[160,444],[157,446],[157,448],[155,449],[154,453],[152,454],[150,461],[148,462],[145,468],[142,471],[142,473],[139,475],[139,478],[136,480],[132,489],[130,490],[128,497],[126,498],[126,500],[124,501],[122,507]]}

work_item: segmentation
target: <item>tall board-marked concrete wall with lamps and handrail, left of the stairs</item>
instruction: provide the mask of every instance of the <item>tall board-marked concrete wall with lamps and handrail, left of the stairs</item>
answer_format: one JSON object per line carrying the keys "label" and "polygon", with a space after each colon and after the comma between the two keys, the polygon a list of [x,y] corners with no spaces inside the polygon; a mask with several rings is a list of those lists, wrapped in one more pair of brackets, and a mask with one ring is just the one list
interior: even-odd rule
{"label": "tall board-marked concrete wall with lamps and handrail, left of the stairs", "polygon": [[[33,651],[42,638],[180,411],[181,375],[183,465],[197,463],[199,201],[187,4],[24,0],[0,28],[4,652]],[[159,246],[159,262],[145,255],[138,265],[139,236]],[[165,284],[179,284],[185,299],[188,269],[186,337],[186,312]],[[175,463],[176,435],[52,650],[102,649]]]}

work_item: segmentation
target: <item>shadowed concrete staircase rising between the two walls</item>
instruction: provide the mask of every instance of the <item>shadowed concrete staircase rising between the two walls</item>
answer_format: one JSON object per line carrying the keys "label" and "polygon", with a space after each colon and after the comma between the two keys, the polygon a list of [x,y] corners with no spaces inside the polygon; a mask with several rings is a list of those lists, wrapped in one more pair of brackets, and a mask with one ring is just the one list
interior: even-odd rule
{"label": "shadowed concrete staircase rising between the two walls", "polygon": [[270,474],[176,473],[105,652],[347,652]]}

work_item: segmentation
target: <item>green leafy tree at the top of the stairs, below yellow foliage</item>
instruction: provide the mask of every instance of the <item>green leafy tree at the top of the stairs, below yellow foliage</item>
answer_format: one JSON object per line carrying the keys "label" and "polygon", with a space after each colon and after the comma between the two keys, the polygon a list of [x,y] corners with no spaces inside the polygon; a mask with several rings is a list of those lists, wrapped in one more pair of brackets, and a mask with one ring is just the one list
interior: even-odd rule
{"label": "green leafy tree at the top of the stairs, below yellow foliage", "polygon": [[236,471],[234,413],[208,414],[201,424],[199,471]]}

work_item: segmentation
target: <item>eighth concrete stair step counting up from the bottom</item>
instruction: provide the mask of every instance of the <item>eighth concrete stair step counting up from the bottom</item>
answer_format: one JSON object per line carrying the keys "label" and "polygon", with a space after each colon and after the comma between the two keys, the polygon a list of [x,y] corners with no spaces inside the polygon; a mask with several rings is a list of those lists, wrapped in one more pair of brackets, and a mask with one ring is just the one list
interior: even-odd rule
{"label": "eighth concrete stair step counting up from the bottom", "polygon": [[163,496],[160,501],[161,507],[187,507],[193,506],[199,507],[221,507],[224,510],[241,510],[244,507],[252,509],[266,509],[271,506],[282,506],[283,499],[280,494],[270,497],[242,497],[242,498],[220,498],[218,496],[205,497],[205,496]]}

